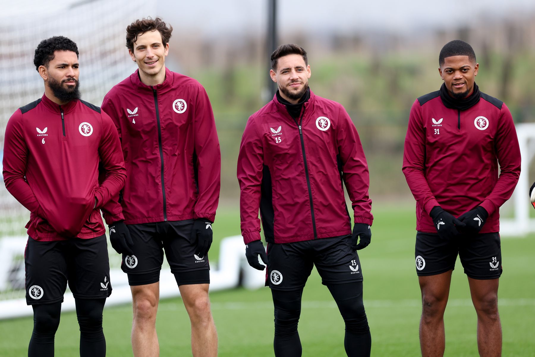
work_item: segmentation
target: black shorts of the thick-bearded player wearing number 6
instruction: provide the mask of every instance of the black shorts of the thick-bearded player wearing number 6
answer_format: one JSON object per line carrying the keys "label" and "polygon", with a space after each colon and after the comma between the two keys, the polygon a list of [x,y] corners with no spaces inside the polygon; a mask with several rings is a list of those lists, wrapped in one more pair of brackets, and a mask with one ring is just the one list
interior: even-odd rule
{"label": "black shorts of the thick-bearded player wearing number 6", "polygon": [[67,282],[77,299],[107,298],[111,294],[105,235],[50,242],[28,238],[24,263],[28,305],[63,301]]}

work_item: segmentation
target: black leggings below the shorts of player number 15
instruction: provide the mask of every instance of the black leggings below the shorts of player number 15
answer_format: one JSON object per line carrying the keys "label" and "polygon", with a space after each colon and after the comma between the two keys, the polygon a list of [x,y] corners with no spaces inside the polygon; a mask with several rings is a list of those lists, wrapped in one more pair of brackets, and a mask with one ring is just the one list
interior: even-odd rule
{"label": "black leggings below the shorts of player number 15", "polygon": [[[369,357],[371,335],[362,302],[362,282],[327,285],[346,324],[344,347],[349,357]],[[302,347],[297,323],[303,290],[271,290],[275,316],[276,357],[299,357]]]}

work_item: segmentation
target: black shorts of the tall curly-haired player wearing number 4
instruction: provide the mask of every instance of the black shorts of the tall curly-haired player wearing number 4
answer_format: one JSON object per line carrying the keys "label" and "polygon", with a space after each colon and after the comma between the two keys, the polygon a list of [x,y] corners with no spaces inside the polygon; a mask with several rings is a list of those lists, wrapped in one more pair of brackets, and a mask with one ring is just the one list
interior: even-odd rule
{"label": "black shorts of the tall curly-haired player wearing number 4", "polygon": [[128,224],[134,255],[123,254],[121,269],[129,285],[147,285],[160,280],[164,250],[178,285],[209,284],[208,255],[197,256],[190,242],[193,219]]}

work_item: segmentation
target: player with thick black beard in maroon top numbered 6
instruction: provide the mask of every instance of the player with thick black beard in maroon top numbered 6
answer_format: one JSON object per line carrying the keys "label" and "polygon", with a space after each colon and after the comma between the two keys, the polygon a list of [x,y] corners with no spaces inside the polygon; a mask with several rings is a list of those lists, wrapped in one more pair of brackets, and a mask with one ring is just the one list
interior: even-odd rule
{"label": "player with thick black beard in maroon top numbered 6", "polygon": [[123,219],[120,207],[107,205],[125,184],[119,136],[108,115],[80,100],[76,43],[63,36],[43,40],[34,64],[44,95],[9,119],[3,159],[7,190],[30,211],[26,303],[34,329],[28,356],[54,355],[67,283],[80,324],[80,356],[104,356],[102,309],[111,285],[100,209],[109,223]]}

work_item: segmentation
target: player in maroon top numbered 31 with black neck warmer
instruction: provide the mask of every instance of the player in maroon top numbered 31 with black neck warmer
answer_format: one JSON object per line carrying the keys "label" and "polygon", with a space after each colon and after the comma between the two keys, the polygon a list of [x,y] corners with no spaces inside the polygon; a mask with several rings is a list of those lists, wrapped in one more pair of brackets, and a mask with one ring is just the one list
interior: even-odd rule
{"label": "player in maroon top numbered 31 with black neck warmer", "polygon": [[444,83],[412,104],[403,155],[416,199],[422,355],[444,354],[444,310],[458,254],[477,313],[479,354],[500,356],[499,208],[520,174],[518,139],[507,106],[479,91],[479,64],[468,43],[448,42],[439,66]]}

